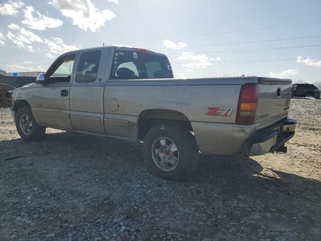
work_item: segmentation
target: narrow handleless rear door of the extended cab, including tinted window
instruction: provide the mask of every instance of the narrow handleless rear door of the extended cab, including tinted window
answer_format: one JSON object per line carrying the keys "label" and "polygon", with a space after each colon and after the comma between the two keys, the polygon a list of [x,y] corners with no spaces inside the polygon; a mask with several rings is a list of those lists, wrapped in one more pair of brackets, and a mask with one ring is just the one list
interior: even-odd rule
{"label": "narrow handleless rear door of the extended cab, including tinted window", "polygon": [[103,94],[108,48],[79,53],[70,88],[70,119],[75,131],[106,135]]}

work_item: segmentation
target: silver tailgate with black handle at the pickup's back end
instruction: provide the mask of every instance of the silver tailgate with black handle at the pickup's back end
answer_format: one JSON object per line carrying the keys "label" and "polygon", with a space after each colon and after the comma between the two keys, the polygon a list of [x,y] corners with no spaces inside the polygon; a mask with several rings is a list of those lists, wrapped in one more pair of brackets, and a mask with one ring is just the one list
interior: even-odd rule
{"label": "silver tailgate with black handle at the pickup's back end", "polygon": [[258,78],[258,129],[287,117],[291,100],[291,82],[290,79]]}

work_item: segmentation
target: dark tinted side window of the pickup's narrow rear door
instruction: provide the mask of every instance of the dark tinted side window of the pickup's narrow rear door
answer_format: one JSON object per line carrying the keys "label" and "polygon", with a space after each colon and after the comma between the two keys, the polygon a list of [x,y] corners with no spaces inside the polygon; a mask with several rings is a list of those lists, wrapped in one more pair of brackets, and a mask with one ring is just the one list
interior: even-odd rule
{"label": "dark tinted side window of the pickup's narrow rear door", "polygon": [[100,55],[101,51],[99,50],[81,54],[76,72],[77,83],[94,82],[96,80]]}

